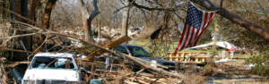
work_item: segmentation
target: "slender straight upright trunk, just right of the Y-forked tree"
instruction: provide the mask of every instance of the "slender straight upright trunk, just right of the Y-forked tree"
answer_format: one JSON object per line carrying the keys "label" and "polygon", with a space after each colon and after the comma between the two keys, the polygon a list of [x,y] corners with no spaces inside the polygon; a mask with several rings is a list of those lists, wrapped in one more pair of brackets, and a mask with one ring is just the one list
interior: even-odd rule
{"label": "slender straight upright trunk, just right of the Y-forked tree", "polygon": [[[126,0],[125,5],[130,4],[129,0]],[[128,36],[128,19],[129,19],[130,6],[124,8],[124,13],[122,17],[122,26],[121,26],[121,36]]]}

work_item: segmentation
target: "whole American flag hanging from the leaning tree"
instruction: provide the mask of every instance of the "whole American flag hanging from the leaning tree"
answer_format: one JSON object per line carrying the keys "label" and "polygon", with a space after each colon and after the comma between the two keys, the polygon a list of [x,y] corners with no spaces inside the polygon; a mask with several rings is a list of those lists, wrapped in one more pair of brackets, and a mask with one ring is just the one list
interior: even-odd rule
{"label": "whole American flag hanging from the leaning tree", "polygon": [[187,46],[196,46],[204,29],[209,25],[216,13],[218,13],[218,11],[203,12],[196,8],[195,5],[188,2],[186,22],[174,55]]}

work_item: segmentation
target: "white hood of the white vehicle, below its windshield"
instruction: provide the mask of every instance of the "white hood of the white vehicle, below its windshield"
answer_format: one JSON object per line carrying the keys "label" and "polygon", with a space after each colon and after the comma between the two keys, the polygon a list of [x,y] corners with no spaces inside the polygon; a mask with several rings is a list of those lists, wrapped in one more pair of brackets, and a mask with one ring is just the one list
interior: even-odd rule
{"label": "white hood of the white vehicle, below its windshield", "polygon": [[79,74],[71,70],[30,69],[26,71],[23,80],[78,81]]}

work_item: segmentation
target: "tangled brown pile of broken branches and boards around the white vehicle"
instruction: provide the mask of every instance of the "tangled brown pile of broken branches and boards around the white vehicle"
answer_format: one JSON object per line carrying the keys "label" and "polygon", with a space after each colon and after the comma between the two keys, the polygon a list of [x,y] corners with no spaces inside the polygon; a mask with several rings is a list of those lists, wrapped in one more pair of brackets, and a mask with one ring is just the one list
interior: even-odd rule
{"label": "tangled brown pile of broken branches and boards around the white vehicle", "polygon": [[[8,11],[8,10],[6,10]],[[22,16],[21,19],[30,21],[27,18]],[[2,17],[1,24],[6,23],[6,21],[15,25],[12,27],[2,26],[1,30],[8,30],[13,32],[27,32],[27,33],[14,33],[13,35],[5,35],[0,38],[2,40],[1,46],[1,82],[4,83],[15,83],[17,80],[12,79],[10,68],[15,67],[18,64],[28,64],[33,55],[40,52],[52,52],[52,53],[79,53],[80,55],[87,55],[85,58],[78,57],[76,61],[77,65],[82,70],[82,82],[89,83],[91,80],[101,80],[103,83],[112,83],[112,84],[123,84],[123,83],[183,83],[184,80],[188,79],[188,75],[178,73],[177,71],[165,71],[158,67],[153,67],[150,64],[143,63],[141,59],[139,60],[136,57],[118,53],[117,51],[110,50],[112,46],[118,46],[125,41],[120,41],[121,39],[112,39],[113,42],[117,45],[106,45],[106,42],[91,43],[84,40],[83,38],[77,37],[78,35],[66,34],[61,31],[45,29],[44,27],[39,26],[34,21],[30,21],[36,26],[32,26],[29,23],[22,21],[14,21],[9,18]],[[3,22],[4,21],[4,22]],[[2,32],[4,33],[4,32]],[[40,41],[33,44],[33,50],[28,51],[23,48],[11,47],[10,45],[14,42],[19,42],[20,38],[24,37],[33,37],[33,41]],[[42,38],[45,37],[45,38]],[[58,37],[58,38],[53,38]],[[129,40],[127,36],[122,37],[123,39]],[[52,40],[50,40],[52,39]],[[56,41],[55,41],[56,40]],[[68,42],[74,41],[73,44]],[[113,43],[112,42],[112,43]],[[10,43],[10,44],[7,44]],[[35,43],[35,42],[33,42]],[[48,47],[50,43],[53,43],[52,46]],[[103,46],[100,46],[103,45]],[[106,45],[106,46],[104,46]],[[20,45],[21,46],[21,45]],[[23,45],[22,45],[23,46]],[[110,48],[110,49],[109,49]],[[16,55],[18,54],[18,55]],[[16,56],[14,56],[16,55]],[[111,57],[113,60],[117,60],[119,63],[111,63],[110,67],[107,68],[103,62],[99,62],[96,58],[99,57],[108,57],[108,55],[117,55],[120,58],[123,58],[124,61],[118,58]],[[19,60],[13,60],[19,59]],[[17,61],[17,62],[14,62]],[[18,62],[21,61],[21,62]],[[147,62],[151,63],[151,62]],[[134,71],[132,70],[132,65],[138,65],[141,67],[141,70]],[[157,66],[156,63],[152,63]],[[203,83],[202,81],[195,81],[195,83]],[[187,83],[187,82],[185,82]]]}

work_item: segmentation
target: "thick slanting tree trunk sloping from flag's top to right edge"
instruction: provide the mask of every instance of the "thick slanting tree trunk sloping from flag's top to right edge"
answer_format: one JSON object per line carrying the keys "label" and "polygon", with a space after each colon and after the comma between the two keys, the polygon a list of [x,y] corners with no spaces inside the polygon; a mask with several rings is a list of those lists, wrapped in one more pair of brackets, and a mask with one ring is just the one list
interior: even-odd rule
{"label": "thick slanting tree trunk sloping from flag's top to right edge", "polygon": [[[195,4],[199,4],[209,10],[220,10],[218,4],[213,4],[209,0],[190,0],[190,1],[194,2]],[[220,15],[234,23],[239,24],[241,27],[255,33],[257,36],[264,38],[266,41],[269,41],[269,32],[257,26],[255,23],[247,21],[246,19],[240,17],[238,14],[231,13],[230,11],[224,8],[220,12]]]}

